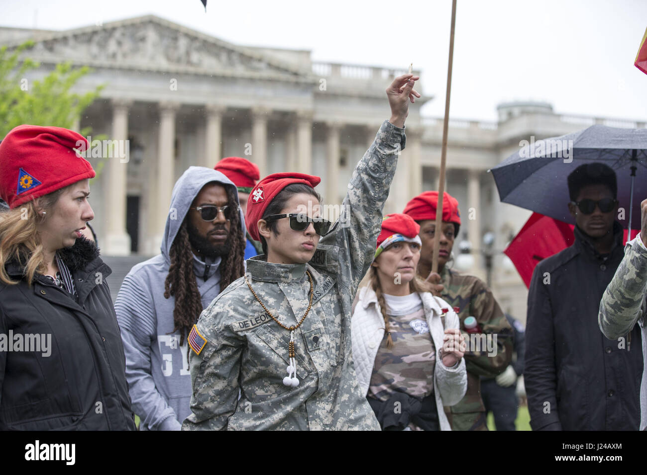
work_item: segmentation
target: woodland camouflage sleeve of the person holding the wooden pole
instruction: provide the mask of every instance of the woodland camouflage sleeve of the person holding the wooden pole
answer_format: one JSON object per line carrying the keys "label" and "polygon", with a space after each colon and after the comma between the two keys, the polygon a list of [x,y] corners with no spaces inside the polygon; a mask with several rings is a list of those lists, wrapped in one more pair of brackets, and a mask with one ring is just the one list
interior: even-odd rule
{"label": "woodland camouflage sleeve of the person holding the wooden pole", "polygon": [[496,336],[496,351],[465,352],[467,372],[494,377],[512,361],[512,328],[494,295],[480,280],[470,300],[470,315],[476,318],[484,335],[492,335],[492,343]]}

